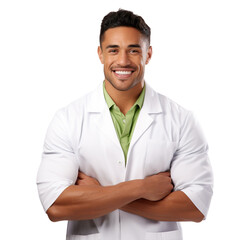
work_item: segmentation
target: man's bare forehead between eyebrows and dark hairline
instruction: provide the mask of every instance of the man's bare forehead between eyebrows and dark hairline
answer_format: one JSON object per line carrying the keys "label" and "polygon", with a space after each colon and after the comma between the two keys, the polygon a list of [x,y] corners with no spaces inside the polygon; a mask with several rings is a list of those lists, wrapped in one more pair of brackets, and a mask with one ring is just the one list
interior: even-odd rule
{"label": "man's bare forehead between eyebrows and dark hairline", "polygon": [[140,31],[133,27],[110,28],[104,33],[102,45],[125,46],[130,44],[145,44],[146,38]]}

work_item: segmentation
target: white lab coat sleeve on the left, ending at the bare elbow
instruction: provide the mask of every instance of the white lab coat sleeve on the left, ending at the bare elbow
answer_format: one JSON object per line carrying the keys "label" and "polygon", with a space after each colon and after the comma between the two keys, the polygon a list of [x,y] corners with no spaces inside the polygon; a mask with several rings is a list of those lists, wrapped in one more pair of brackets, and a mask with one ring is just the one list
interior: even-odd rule
{"label": "white lab coat sleeve on the left, ending at the bare elbow", "polygon": [[67,114],[62,109],[48,128],[37,175],[39,197],[45,211],[77,179],[78,165],[68,134]]}

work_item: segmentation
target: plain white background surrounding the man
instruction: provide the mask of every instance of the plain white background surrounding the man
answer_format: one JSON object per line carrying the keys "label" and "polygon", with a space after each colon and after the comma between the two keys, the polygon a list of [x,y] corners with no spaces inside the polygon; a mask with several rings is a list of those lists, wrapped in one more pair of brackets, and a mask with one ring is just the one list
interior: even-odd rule
{"label": "plain white background surrounding the man", "polygon": [[185,240],[240,239],[240,5],[202,1],[0,1],[1,239],[65,239],[35,184],[47,126],[57,109],[102,80],[100,23],[124,8],[152,29],[146,80],[197,115],[215,188],[206,221],[183,223]]}

